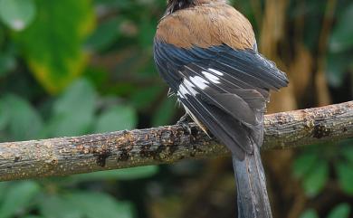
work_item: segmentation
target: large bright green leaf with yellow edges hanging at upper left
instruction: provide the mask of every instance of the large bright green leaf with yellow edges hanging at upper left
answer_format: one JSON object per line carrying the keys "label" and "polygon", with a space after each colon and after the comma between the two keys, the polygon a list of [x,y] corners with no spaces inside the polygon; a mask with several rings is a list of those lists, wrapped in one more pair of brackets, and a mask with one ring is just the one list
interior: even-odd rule
{"label": "large bright green leaf with yellow edges hanging at upper left", "polygon": [[57,93],[77,78],[87,62],[82,52],[94,24],[91,1],[37,0],[34,23],[14,38],[34,76],[51,93]]}

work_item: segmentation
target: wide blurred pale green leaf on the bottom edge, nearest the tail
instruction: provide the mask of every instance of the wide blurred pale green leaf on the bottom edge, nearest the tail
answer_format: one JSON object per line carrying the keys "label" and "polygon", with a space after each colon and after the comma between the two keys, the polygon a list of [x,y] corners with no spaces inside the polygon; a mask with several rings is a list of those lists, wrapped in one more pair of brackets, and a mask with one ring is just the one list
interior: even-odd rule
{"label": "wide blurred pale green leaf on the bottom edge, nearest the tail", "polygon": [[88,218],[132,218],[132,206],[117,202],[108,194],[74,193],[66,199]]}

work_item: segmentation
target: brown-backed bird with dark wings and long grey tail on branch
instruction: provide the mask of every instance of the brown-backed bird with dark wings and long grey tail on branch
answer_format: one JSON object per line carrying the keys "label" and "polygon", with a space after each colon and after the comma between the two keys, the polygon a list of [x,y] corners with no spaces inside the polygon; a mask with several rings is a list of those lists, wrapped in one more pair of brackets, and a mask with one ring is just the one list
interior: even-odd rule
{"label": "brown-backed bird with dark wings and long grey tail on branch", "polygon": [[[167,0],[153,53],[186,116],[231,151],[238,217],[272,217],[260,156],[263,121],[270,91],[289,80],[258,52],[252,24],[225,0]],[[186,116],[178,122],[184,127]]]}

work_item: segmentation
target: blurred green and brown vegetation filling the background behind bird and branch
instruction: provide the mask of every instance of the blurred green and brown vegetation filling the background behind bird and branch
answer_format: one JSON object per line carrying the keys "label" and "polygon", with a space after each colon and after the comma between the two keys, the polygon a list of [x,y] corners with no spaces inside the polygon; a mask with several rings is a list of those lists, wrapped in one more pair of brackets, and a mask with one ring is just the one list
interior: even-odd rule
{"label": "blurred green and brown vegetation filling the background behind bird and branch", "polygon": [[[172,124],[152,39],[165,0],[0,0],[0,141]],[[291,86],[269,111],[353,96],[353,2],[238,0]],[[353,141],[263,154],[275,217],[353,217]],[[0,183],[1,218],[234,217],[230,159]]]}

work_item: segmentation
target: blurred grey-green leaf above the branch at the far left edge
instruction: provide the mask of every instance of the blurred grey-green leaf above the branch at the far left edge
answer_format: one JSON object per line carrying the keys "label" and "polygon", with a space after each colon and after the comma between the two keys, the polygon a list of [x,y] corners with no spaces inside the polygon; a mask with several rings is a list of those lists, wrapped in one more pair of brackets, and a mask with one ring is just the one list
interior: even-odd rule
{"label": "blurred grey-green leaf above the branch at the far left edge", "polygon": [[27,100],[8,95],[3,100],[8,114],[9,131],[13,139],[27,140],[39,137],[43,121]]}

